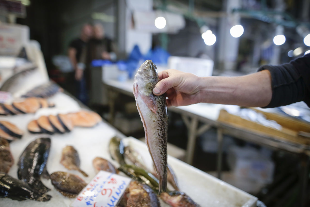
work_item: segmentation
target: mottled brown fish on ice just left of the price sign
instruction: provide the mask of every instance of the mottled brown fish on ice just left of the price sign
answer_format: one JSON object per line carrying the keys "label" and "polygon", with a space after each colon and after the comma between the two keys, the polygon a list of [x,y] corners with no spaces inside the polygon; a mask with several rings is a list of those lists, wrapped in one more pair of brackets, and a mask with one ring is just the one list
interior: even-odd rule
{"label": "mottled brown fish on ice just left of the price sign", "polygon": [[51,182],[57,191],[69,198],[76,197],[87,185],[82,178],[66,172],[52,173]]}

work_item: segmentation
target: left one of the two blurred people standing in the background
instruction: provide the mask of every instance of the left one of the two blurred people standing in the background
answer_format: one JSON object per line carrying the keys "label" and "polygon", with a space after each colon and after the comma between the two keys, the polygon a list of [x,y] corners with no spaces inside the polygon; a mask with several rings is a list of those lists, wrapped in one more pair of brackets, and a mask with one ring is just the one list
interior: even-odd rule
{"label": "left one of the two blurred people standing in the background", "polygon": [[68,56],[74,69],[74,79],[77,83],[77,98],[87,105],[88,94],[86,92],[85,79],[83,77],[85,69],[86,44],[93,35],[93,29],[90,24],[82,27],[78,38],[71,41],[68,49]]}

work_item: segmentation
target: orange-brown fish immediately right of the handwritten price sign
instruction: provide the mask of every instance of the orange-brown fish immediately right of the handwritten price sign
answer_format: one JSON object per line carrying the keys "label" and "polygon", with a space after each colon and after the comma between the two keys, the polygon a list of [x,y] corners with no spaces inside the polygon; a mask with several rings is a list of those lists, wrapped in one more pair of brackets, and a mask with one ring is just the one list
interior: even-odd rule
{"label": "orange-brown fish immediately right of the handwritten price sign", "polygon": [[147,185],[131,181],[126,207],[160,207],[157,195]]}

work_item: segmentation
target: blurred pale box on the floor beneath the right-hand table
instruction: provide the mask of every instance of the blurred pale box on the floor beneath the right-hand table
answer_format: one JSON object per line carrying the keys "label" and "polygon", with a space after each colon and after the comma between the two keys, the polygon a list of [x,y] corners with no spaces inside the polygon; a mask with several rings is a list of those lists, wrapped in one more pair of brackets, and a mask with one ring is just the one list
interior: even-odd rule
{"label": "blurred pale box on the floor beneath the right-hand table", "polygon": [[236,177],[271,183],[274,163],[270,153],[258,151],[251,147],[231,146],[227,161]]}

